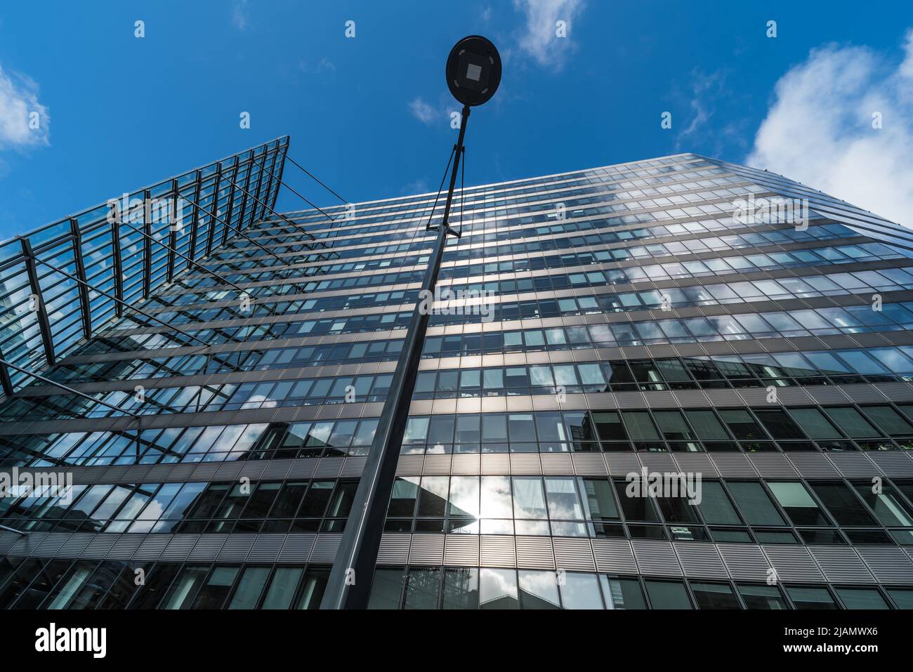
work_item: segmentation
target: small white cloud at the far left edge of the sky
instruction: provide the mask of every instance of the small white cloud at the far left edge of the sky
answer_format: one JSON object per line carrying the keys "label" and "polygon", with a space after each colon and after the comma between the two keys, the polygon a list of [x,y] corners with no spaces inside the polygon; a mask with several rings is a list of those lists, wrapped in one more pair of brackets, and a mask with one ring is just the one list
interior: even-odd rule
{"label": "small white cloud at the far left edge of the sky", "polygon": [[0,66],[0,149],[49,144],[49,125],[47,107],[38,102],[37,83],[25,75],[7,74]]}

